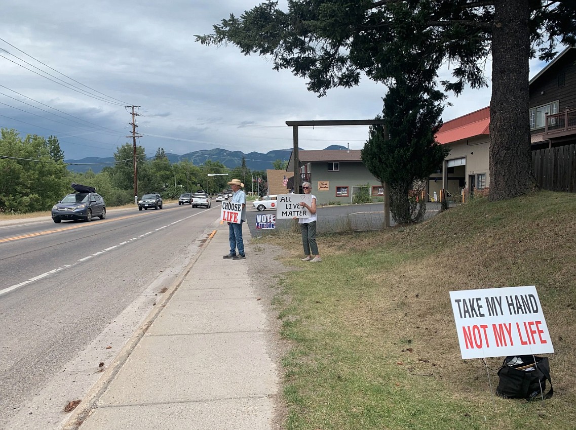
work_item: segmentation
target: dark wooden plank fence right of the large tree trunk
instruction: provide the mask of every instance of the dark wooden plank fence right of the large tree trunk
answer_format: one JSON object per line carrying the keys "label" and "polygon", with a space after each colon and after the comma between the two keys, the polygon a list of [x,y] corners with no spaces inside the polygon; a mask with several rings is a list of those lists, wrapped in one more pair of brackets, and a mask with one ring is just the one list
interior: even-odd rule
{"label": "dark wooden plank fence right of the large tree trunk", "polygon": [[576,145],[535,149],[532,169],[541,189],[576,193]]}

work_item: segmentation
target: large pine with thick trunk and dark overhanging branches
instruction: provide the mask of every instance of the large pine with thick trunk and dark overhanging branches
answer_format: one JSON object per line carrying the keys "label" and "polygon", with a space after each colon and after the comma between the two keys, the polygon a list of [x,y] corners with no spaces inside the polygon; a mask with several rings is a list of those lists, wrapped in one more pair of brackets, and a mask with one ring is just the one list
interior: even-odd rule
{"label": "large pine with thick trunk and dark overhanging branches", "polygon": [[387,83],[414,51],[422,70],[452,64],[444,88],[460,94],[466,83],[486,86],[479,64],[491,54],[490,198],[499,200],[533,186],[528,61],[550,60],[575,32],[573,0],[289,0],[287,12],[268,0],[196,40],[271,56],[319,95],[358,85],[362,72]]}

